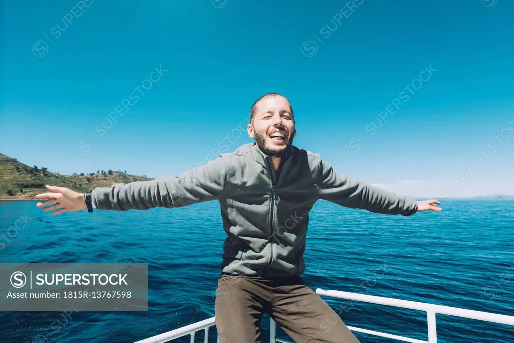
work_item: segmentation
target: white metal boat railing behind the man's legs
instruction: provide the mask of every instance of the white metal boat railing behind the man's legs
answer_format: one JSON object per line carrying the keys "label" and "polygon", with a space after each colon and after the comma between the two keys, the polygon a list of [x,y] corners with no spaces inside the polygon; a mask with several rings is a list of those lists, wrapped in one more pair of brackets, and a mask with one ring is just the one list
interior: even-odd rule
{"label": "white metal boat railing behind the man's legs", "polygon": [[[493,323],[514,326],[514,316],[506,316],[503,314],[494,314],[494,313],[487,313],[487,312],[480,312],[480,311],[465,310],[465,309],[459,309],[459,308],[454,308],[454,307],[449,307],[449,306],[434,305],[434,304],[417,302],[417,301],[378,297],[378,296],[374,296],[374,295],[348,293],[348,292],[333,291],[333,290],[323,290],[320,288],[318,288],[316,290],[316,293],[319,295],[325,295],[325,296],[339,298],[339,299],[369,302],[369,303],[374,303],[374,304],[399,307],[402,309],[418,310],[418,311],[426,312],[427,313],[427,325],[428,325],[428,341],[413,339],[413,338],[408,338],[408,337],[402,337],[402,336],[397,336],[397,335],[391,335],[391,334],[387,334],[387,333],[383,333],[383,332],[365,330],[365,329],[354,328],[354,327],[348,326],[348,329],[350,329],[353,332],[360,332],[360,333],[369,334],[369,335],[373,335],[373,336],[395,339],[395,340],[399,340],[399,341],[403,341],[403,342],[437,343],[437,330],[436,330],[436,322],[435,322],[436,314],[444,314],[444,315],[449,315],[449,316],[454,316],[454,317],[476,319],[476,320],[489,321],[489,322],[493,322]],[[280,343],[288,343],[287,341],[280,340],[275,337],[276,336],[276,324],[273,320],[271,320],[271,318],[270,318],[269,322],[270,322],[269,341],[272,343],[279,343],[279,342]],[[191,343],[194,343],[195,333],[198,331],[201,331],[201,330],[205,331],[204,342],[208,343],[209,328],[211,326],[215,326],[215,325],[216,325],[215,317],[212,317],[212,318],[209,318],[209,319],[206,319],[203,321],[193,323],[186,327],[182,327],[182,328],[175,329],[175,330],[172,330],[172,331],[169,331],[169,332],[166,332],[166,333],[154,336],[154,337],[150,337],[150,338],[146,338],[146,339],[137,341],[136,343],[165,343],[165,342],[169,342],[173,339],[184,337],[187,335],[190,335]],[[218,337],[218,342],[219,342],[219,337]]]}

